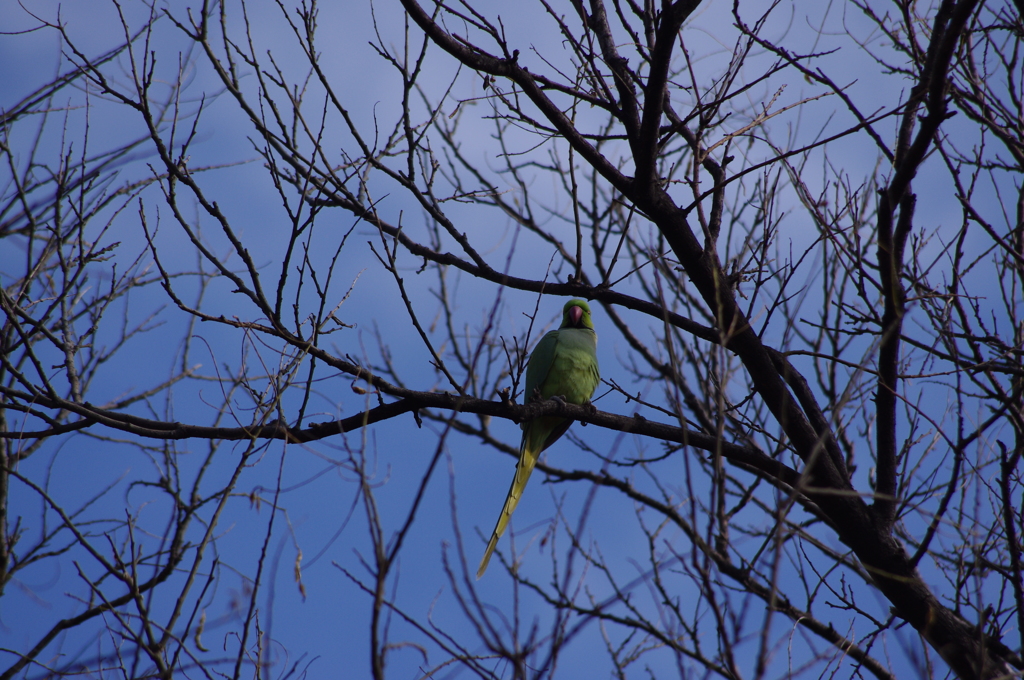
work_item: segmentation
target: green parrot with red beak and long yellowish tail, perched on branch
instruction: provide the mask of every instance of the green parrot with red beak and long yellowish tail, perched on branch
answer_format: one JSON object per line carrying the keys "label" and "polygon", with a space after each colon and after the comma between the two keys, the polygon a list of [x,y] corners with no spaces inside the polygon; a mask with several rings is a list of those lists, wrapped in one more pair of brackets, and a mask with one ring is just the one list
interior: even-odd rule
{"label": "green parrot with red beak and long yellowish tail, perched on branch", "polygon": [[[543,401],[552,397],[569,403],[589,403],[601,376],[597,369],[597,333],[590,320],[590,305],[585,300],[569,300],[562,308],[562,325],[537,343],[526,365],[525,402]],[[505,499],[505,507],[498,517],[495,533],[490,535],[487,549],[476,570],[479,579],[487,570],[487,562],[495,552],[498,539],[505,533],[515,507],[519,505],[522,490],[526,487],[529,473],[534,471],[541,452],[565,434],[572,421],[559,416],[542,416],[522,424],[522,441],[519,443],[519,462],[515,478]]]}

